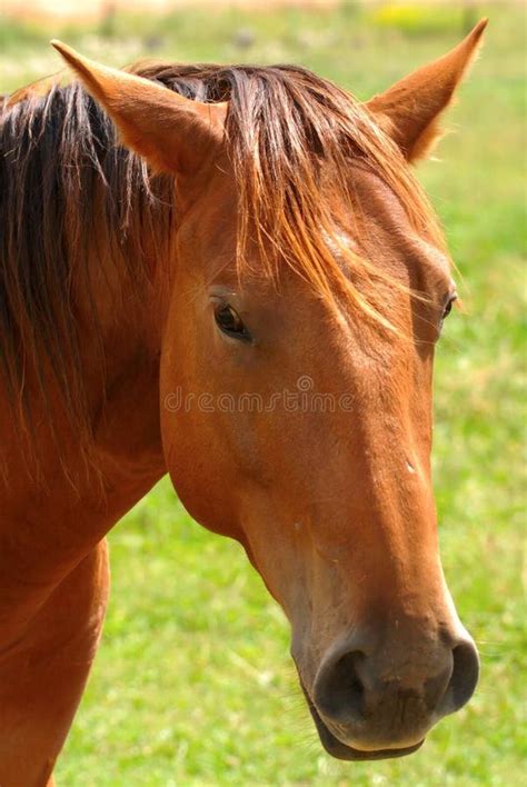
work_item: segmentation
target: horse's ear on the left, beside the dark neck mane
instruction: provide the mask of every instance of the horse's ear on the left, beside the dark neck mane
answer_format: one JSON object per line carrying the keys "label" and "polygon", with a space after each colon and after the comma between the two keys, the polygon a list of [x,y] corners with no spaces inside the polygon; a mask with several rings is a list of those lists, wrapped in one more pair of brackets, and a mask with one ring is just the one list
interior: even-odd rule
{"label": "horse's ear on the left, beside the dark neck mane", "polygon": [[116,123],[121,142],[157,171],[193,175],[219,149],[228,103],[200,103],[51,41]]}

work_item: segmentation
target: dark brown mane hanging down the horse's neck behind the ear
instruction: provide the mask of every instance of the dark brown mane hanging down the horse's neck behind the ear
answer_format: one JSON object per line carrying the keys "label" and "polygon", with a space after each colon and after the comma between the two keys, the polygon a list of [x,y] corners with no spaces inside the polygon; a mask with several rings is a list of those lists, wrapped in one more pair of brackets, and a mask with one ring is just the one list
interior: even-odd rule
{"label": "dark brown mane hanging down the horse's neck behind the ear", "polygon": [[[141,228],[167,228],[170,201],[167,179],[150,177],[138,157],[116,145],[115,127],[79,83],[53,84],[44,96],[30,90],[7,103],[0,117],[0,375],[20,416],[29,415],[30,368],[43,402],[51,373],[72,425],[89,430],[72,278],[84,277],[90,297],[97,233],[131,277],[143,276]],[[92,318],[95,329],[95,303]]]}

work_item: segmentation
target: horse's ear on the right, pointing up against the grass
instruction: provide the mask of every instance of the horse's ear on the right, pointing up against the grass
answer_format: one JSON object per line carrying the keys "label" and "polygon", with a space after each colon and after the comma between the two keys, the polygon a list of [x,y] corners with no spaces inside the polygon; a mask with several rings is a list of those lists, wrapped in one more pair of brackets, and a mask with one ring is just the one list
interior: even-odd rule
{"label": "horse's ear on the right, pointing up against the grass", "polygon": [[448,54],[366,103],[408,161],[425,158],[441,137],[439,117],[474,61],[487,22],[483,19]]}

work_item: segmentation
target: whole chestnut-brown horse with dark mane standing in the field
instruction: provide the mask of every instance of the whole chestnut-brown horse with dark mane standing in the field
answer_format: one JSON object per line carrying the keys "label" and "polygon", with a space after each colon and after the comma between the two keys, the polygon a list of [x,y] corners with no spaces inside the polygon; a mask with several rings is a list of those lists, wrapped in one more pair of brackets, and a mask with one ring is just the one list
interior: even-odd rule
{"label": "whole chestnut-brown horse with dark mane standing in the field", "polygon": [[4,101],[2,787],[51,784],[105,535],[167,471],[285,610],[330,754],[411,753],[471,696],[429,461],[456,292],[409,163],[484,28],[366,104],[300,68],[125,72],[60,43],[80,82]]}

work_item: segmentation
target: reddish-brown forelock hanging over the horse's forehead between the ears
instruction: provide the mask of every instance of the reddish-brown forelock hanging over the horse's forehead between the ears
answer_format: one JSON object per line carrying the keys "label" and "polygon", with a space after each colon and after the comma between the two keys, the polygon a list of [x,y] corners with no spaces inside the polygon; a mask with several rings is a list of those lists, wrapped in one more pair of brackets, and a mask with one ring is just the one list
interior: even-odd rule
{"label": "reddish-brown forelock hanging over the horse's forehead between the ears", "polygon": [[[399,288],[400,282],[342,242],[338,203],[360,210],[357,195],[350,193],[351,165],[391,189],[418,235],[441,250],[444,238],[404,156],[365,104],[294,66],[142,62],[131,70],[190,99],[229,102],[226,145],[238,195],[240,273],[253,269],[278,280],[286,263],[335,308],[337,292],[397,332],[395,316],[388,320],[365,296],[361,282],[382,279]],[[349,211],[342,219],[349,221]],[[364,231],[359,223],[352,230]]]}

